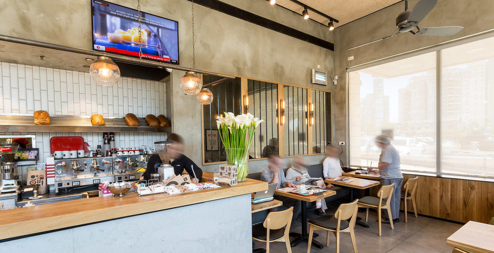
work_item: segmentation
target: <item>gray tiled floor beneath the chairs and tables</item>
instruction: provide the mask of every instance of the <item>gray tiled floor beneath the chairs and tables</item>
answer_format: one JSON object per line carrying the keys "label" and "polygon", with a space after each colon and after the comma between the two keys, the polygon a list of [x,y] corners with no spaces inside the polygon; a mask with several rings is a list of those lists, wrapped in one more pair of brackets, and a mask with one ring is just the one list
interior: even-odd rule
{"label": "gray tiled floor beneath the chairs and tables", "polygon": [[[334,209],[338,204],[334,204]],[[333,209],[333,207],[331,207]],[[313,211],[308,211],[312,213]],[[328,211],[330,212],[330,211]],[[327,213],[328,213],[327,212]],[[442,221],[438,219],[409,214],[408,223],[405,223],[405,213],[400,212],[400,222],[395,223],[395,229],[391,229],[389,224],[382,224],[382,236],[378,234],[377,212],[369,211],[370,228],[355,226],[355,237],[357,240],[357,250],[359,253],[451,253],[453,247],[446,245],[446,238],[458,230],[461,225]],[[358,216],[365,219],[365,212],[358,213]],[[309,215],[309,219],[316,217]],[[301,224],[297,222],[292,232],[300,232]],[[316,231],[319,236],[317,241],[325,247],[319,249],[311,247],[311,253],[334,253],[336,252],[335,238],[329,235],[329,247],[326,247],[326,232]],[[340,253],[353,253],[350,233],[341,233]],[[293,239],[290,237],[290,240]],[[256,242],[257,248],[265,248],[263,242]],[[287,248],[284,242],[270,243],[271,253],[286,253]],[[307,242],[301,242],[296,247],[291,248],[292,253],[306,253]]]}

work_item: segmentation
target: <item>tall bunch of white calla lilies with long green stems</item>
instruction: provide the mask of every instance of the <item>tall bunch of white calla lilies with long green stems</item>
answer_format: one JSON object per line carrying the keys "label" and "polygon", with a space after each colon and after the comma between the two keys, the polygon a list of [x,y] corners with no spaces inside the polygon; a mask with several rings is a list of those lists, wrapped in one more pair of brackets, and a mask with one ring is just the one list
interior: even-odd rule
{"label": "tall bunch of white calla lilies with long green stems", "polygon": [[235,116],[225,113],[225,117],[216,117],[219,136],[226,150],[227,164],[237,165],[238,180],[245,181],[248,174],[248,150],[255,129],[264,122],[254,115],[247,113]]}

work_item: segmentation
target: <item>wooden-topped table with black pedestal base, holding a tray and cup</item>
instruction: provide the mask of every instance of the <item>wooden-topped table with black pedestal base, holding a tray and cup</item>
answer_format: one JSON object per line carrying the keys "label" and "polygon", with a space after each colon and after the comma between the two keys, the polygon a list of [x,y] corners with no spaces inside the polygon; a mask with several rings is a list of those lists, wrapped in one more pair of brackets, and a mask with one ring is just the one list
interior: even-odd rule
{"label": "wooden-topped table with black pedestal base, holding a tray and cup", "polygon": [[[322,195],[319,195],[319,196],[314,196],[314,195],[302,196],[302,195],[298,195],[298,194],[294,194],[294,193],[282,192],[280,190],[276,190],[275,194],[285,196],[288,198],[292,198],[292,199],[296,199],[296,200],[300,200],[300,204],[302,205],[301,206],[301,208],[302,208],[302,210],[301,210],[302,211],[302,213],[301,213],[301,216],[302,216],[302,233],[299,234],[299,233],[293,233],[292,232],[289,234],[290,236],[295,237],[295,239],[293,239],[290,242],[290,246],[295,247],[301,241],[308,241],[309,240],[309,234],[307,233],[307,202],[314,202],[316,200],[324,199],[326,197],[335,195],[336,192],[335,191],[328,191],[328,192],[324,192]],[[319,234],[314,233],[312,238],[314,238],[316,236],[319,236]],[[315,245],[319,249],[324,248],[324,246],[321,243],[319,243],[318,241],[316,241],[315,239],[312,239],[312,245]]]}

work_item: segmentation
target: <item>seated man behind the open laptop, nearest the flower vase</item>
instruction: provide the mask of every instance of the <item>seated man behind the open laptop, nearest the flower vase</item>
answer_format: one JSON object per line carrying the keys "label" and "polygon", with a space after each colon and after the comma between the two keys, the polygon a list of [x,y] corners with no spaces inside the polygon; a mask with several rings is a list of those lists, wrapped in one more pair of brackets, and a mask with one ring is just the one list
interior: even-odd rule
{"label": "seated man behind the open laptop, nearest the flower vase", "polygon": [[[276,154],[270,155],[269,166],[268,168],[262,171],[261,180],[264,182],[268,182],[270,184],[277,183],[278,185],[276,186],[276,189],[285,188],[285,187],[296,188],[297,187],[296,185],[287,182],[285,180],[285,173],[283,172],[282,167],[283,167],[283,162],[281,161],[280,156]],[[290,207],[293,207],[293,216],[291,218],[291,224],[293,225],[301,209],[300,201],[276,194],[274,195],[274,198],[276,200],[282,201],[283,206],[272,208],[271,209],[272,211],[282,211]]]}

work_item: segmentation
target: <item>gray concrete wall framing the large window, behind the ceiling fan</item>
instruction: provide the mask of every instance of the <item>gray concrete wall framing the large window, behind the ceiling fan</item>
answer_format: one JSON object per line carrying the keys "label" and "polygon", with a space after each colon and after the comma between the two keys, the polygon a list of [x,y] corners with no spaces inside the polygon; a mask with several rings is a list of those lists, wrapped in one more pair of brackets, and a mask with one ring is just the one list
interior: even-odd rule
{"label": "gray concrete wall framing the large window, behind the ceiling fan", "polygon": [[[410,0],[410,9],[418,0]],[[335,100],[335,139],[348,141],[347,138],[347,58],[354,56],[351,66],[381,59],[398,53],[407,52],[423,46],[449,41],[466,35],[475,34],[494,28],[493,0],[439,0],[436,7],[419,24],[419,27],[463,26],[464,29],[453,36],[413,36],[410,33],[374,42],[356,49],[347,48],[390,36],[396,29],[395,18],[405,10],[405,2],[401,1],[374,12],[361,19],[334,29],[334,71],[338,75]],[[391,105],[392,106],[392,105]],[[348,146],[347,146],[348,147]],[[347,154],[341,156],[346,161]]]}

